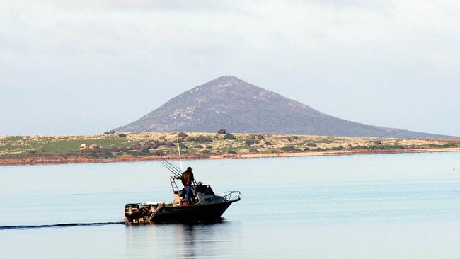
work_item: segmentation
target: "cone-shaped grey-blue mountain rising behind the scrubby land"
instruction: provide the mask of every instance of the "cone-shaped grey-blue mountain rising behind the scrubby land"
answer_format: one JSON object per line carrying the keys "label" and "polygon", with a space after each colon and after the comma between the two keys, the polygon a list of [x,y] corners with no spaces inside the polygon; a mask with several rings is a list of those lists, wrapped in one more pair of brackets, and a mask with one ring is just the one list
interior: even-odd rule
{"label": "cone-shaped grey-blue mountain rising behind the scrubby land", "polygon": [[449,137],[342,120],[235,76],[222,76],[192,88],[115,132],[217,132],[218,129],[343,137]]}

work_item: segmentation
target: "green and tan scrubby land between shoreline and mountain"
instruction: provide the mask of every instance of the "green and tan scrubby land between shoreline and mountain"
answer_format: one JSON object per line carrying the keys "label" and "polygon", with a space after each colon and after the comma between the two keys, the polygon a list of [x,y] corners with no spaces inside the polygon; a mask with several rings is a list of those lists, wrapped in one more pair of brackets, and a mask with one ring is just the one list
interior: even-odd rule
{"label": "green and tan scrubby land between shoreline and mountain", "polygon": [[[362,137],[294,136],[285,134],[224,134],[185,132],[179,137],[181,154],[193,156],[314,153],[318,151],[454,149],[458,139],[390,139]],[[176,156],[176,133],[103,134],[96,136],[3,136],[2,159],[81,159],[129,160],[136,157]],[[96,149],[79,150],[81,144]]]}

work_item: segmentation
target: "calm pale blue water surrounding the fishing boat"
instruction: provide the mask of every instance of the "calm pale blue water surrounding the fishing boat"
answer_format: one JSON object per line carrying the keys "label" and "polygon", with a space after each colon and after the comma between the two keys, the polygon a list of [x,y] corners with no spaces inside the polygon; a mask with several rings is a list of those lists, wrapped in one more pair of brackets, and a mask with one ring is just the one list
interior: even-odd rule
{"label": "calm pale blue water surrounding the fishing boat", "polygon": [[1,258],[460,256],[460,153],[185,164],[241,190],[222,223],[109,224],[126,203],[171,201],[160,163],[0,167]]}

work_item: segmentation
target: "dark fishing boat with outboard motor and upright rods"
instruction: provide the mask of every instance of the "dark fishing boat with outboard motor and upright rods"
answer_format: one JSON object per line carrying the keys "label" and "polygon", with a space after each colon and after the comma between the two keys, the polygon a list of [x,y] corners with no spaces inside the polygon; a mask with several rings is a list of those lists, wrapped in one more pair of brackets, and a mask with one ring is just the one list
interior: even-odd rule
{"label": "dark fishing boat with outboard motor and upright rods", "polygon": [[173,189],[173,202],[145,202],[125,205],[125,222],[127,224],[144,224],[159,222],[196,222],[220,221],[229,206],[241,200],[239,191],[214,194],[211,185],[201,182],[192,183],[192,202],[185,204],[185,188],[178,188],[176,180],[182,177],[178,166],[162,160],[163,166],[173,175],[170,177]]}

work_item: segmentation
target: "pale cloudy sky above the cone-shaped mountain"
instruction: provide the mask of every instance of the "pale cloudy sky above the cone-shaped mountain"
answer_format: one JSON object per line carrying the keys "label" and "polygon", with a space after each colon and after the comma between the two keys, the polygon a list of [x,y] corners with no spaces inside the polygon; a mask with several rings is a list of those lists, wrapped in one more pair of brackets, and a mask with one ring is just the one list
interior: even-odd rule
{"label": "pale cloudy sky above the cone-shaped mountain", "polygon": [[459,1],[0,0],[0,135],[100,134],[232,75],[460,136]]}

